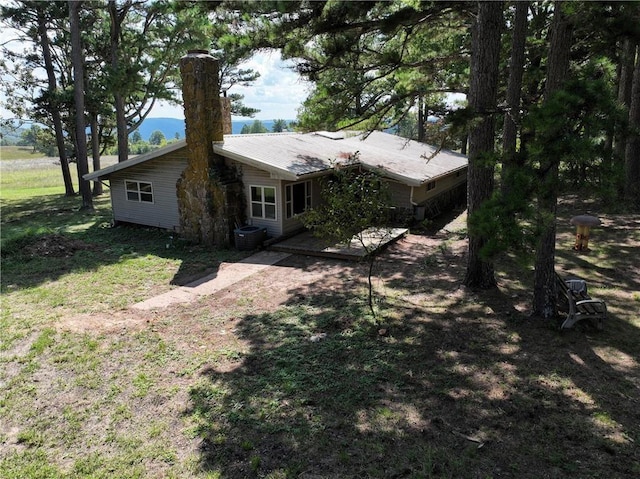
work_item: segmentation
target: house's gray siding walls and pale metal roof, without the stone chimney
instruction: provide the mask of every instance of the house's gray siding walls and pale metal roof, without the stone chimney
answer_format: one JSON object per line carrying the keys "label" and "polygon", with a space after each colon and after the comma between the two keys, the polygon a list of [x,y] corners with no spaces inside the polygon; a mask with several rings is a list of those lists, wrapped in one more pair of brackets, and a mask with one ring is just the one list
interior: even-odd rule
{"label": "house's gray siding walls and pale metal roof, without the stone chimney", "polygon": [[[467,158],[429,145],[374,131],[346,133],[273,133],[226,135],[213,147],[243,183],[245,211],[240,220],[267,229],[271,237],[301,227],[298,214],[320,198],[319,179],[334,161],[358,152],[364,168],[378,169],[389,183],[392,204],[411,212],[438,201],[464,197]],[[187,166],[184,140],[116,163],[85,176],[108,180],[116,222],[180,231],[176,184]]]}

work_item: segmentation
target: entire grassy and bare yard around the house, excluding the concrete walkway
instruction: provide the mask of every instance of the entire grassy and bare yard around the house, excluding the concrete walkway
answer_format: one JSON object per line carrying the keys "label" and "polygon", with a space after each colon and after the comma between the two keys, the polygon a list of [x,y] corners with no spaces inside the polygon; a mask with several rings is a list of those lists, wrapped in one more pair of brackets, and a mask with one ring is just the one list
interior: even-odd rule
{"label": "entire grassy and bare yard around the house, excluding the concrete walkway", "polygon": [[[143,312],[241,255],[4,173],[1,478],[640,476],[637,214],[560,205],[558,270],[607,302],[603,332],[530,318],[514,258],[499,290],[461,287],[464,232],[444,230],[382,255],[377,318],[365,265],[302,256]],[[577,253],[585,209],[603,227]]]}

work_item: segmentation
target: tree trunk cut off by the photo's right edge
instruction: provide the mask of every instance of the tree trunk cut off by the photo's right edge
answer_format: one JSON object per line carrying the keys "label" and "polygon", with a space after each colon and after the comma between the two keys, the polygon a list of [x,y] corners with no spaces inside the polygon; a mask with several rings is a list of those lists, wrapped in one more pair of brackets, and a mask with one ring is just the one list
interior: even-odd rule
{"label": "tree trunk cut off by the photo's right edge", "polygon": [[640,45],[636,45],[629,126],[632,132],[625,149],[625,200],[634,207],[640,206]]}

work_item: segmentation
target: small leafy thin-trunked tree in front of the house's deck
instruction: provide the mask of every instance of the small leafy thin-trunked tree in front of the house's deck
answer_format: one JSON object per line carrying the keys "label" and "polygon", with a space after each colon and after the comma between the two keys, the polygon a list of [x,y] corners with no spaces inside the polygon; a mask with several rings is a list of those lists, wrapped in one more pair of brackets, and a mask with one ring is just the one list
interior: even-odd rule
{"label": "small leafy thin-trunked tree in front of the house's deck", "polygon": [[303,224],[313,234],[335,243],[354,242],[365,250],[369,264],[369,309],[373,305],[373,267],[376,251],[391,235],[391,196],[377,171],[362,170],[358,153],[334,164],[334,173],[322,182],[321,204],[305,212]]}

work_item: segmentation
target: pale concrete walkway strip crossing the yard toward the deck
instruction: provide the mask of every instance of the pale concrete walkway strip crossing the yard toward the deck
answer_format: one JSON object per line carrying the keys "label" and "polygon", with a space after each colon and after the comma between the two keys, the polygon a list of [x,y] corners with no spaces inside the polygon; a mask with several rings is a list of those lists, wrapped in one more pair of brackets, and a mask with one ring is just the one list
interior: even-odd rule
{"label": "pale concrete walkway strip crossing the yard toward the deck", "polygon": [[286,257],[289,253],[277,251],[260,251],[237,263],[222,263],[218,271],[193,283],[167,291],[164,294],[149,298],[131,307],[139,310],[165,308],[176,303],[189,303],[200,296],[213,294],[228,288],[234,283],[272,266]]}

